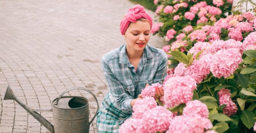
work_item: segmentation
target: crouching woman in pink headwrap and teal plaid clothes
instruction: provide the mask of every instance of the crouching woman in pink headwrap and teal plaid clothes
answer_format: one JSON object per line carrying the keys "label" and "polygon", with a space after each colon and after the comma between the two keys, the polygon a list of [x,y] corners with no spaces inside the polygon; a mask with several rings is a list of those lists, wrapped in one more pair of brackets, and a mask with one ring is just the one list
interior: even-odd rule
{"label": "crouching woman in pink headwrap and teal plaid clothes", "polygon": [[[144,7],[129,9],[120,23],[126,43],[106,53],[102,69],[110,92],[102,101],[97,113],[99,133],[116,133],[124,120],[132,115],[134,102],[146,84],[162,83],[167,75],[167,55],[147,45],[152,18]],[[161,89],[157,95],[163,95]]]}

